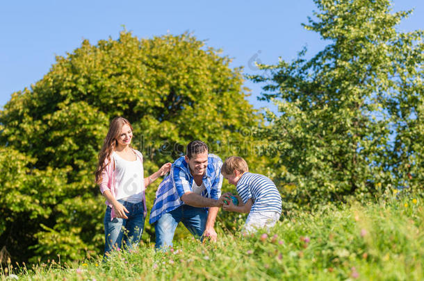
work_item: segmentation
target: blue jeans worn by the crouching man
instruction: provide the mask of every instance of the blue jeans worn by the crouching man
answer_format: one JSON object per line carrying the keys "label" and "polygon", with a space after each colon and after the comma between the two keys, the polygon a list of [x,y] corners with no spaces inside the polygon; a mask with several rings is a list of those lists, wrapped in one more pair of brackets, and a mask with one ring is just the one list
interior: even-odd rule
{"label": "blue jeans worn by the crouching man", "polygon": [[163,214],[154,225],[156,231],[156,248],[166,248],[172,246],[175,229],[181,221],[184,223],[188,231],[197,239],[201,239],[204,229],[206,228],[206,220],[208,219],[208,211],[201,207],[192,207],[182,205],[177,209]]}

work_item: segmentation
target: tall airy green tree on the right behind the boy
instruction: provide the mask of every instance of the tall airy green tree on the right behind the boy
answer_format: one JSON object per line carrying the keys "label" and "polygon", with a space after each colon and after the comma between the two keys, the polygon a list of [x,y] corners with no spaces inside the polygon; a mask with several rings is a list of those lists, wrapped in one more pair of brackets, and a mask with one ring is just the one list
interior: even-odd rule
{"label": "tall airy green tree on the right behind the boy", "polygon": [[[304,27],[328,42],[311,59],[262,65],[252,76],[273,100],[264,153],[279,156],[279,180],[297,205],[373,198],[419,187],[423,167],[422,31],[400,33],[409,12],[389,0],[316,0]],[[394,141],[393,141],[394,139]]]}

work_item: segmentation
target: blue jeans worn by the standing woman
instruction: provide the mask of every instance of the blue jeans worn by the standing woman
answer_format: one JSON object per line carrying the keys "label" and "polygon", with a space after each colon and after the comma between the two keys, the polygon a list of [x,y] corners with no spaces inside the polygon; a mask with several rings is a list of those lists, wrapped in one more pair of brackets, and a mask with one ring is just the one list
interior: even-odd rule
{"label": "blue jeans worn by the standing woman", "polygon": [[119,203],[127,208],[128,219],[111,220],[111,207],[106,208],[104,215],[104,255],[110,253],[111,250],[117,250],[122,247],[122,239],[124,239],[124,248],[132,249],[138,244],[145,225],[145,209],[142,202],[129,203],[127,201],[118,200]]}

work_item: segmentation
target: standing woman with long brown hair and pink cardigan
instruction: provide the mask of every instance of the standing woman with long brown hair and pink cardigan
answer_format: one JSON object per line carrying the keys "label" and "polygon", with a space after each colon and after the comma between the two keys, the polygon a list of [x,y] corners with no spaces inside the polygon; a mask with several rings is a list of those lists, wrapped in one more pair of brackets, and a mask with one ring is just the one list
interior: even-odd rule
{"label": "standing woman with long brown hair and pink cardigan", "polygon": [[95,173],[101,194],[106,197],[104,216],[104,254],[138,244],[147,214],[145,187],[171,169],[164,164],[151,176],[144,178],[142,154],[131,148],[133,128],[123,117],[116,117],[109,126],[99,153]]}

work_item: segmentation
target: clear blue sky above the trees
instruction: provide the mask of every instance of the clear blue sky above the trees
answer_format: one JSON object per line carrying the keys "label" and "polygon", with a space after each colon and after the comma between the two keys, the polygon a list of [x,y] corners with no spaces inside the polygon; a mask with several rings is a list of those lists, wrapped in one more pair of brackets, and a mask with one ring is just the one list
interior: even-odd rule
{"label": "clear blue sky above the trees", "polygon": [[[411,8],[414,13],[400,24],[400,31],[424,28],[423,0],[393,1],[395,11]],[[56,55],[71,53],[83,39],[91,44],[116,39],[122,26],[143,38],[193,32],[234,58],[231,67],[256,74],[254,60],[275,64],[279,57],[293,60],[303,46],[310,55],[323,49],[320,37],[301,26],[315,9],[312,0],[1,1],[0,107],[13,92],[42,79]],[[245,85],[252,89],[249,101],[255,108],[268,105],[256,101],[259,85]]]}

